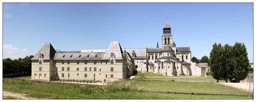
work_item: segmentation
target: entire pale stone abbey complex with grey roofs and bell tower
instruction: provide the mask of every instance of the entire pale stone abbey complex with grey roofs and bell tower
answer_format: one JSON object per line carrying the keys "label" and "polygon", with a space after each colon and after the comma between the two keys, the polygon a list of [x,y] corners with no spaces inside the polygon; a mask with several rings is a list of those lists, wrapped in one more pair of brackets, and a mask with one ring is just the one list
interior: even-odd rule
{"label": "entire pale stone abbey complex with grey roofs and bell tower", "polygon": [[77,52],[55,50],[45,45],[31,59],[32,80],[80,80],[108,82],[127,79],[137,72],[154,72],[167,76],[204,76],[208,65],[191,61],[190,47],[176,47],[166,20],[162,48],[122,49],[112,41],[108,49],[82,49]]}

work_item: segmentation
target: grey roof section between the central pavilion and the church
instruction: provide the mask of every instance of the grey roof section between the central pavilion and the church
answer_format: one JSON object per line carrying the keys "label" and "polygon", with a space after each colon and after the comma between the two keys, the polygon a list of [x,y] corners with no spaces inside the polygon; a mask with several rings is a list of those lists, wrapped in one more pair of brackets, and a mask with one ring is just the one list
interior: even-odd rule
{"label": "grey roof section between the central pavilion and the church", "polygon": [[136,55],[135,58],[147,58],[146,57],[146,53],[147,53],[147,48],[125,48],[126,52],[132,54],[133,50],[134,50],[134,53]]}

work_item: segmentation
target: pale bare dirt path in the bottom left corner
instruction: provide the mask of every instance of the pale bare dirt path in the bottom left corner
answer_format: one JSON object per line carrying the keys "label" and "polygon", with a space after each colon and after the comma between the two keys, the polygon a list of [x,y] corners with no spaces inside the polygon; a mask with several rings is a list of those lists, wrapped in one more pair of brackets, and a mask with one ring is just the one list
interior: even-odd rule
{"label": "pale bare dirt path in the bottom left corner", "polygon": [[19,93],[14,93],[14,92],[7,92],[7,91],[3,91],[3,97],[4,96],[13,97],[16,99],[36,99],[36,98],[32,98],[32,97],[26,97],[26,94],[19,94]]}

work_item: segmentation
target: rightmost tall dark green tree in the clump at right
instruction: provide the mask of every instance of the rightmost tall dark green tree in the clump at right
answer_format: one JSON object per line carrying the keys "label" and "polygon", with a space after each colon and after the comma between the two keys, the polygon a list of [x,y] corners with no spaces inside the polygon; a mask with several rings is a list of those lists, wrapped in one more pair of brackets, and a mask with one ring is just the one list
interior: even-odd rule
{"label": "rightmost tall dark green tree in the clump at right", "polygon": [[234,70],[233,77],[237,83],[244,80],[248,74],[248,53],[244,43],[235,42],[233,46]]}

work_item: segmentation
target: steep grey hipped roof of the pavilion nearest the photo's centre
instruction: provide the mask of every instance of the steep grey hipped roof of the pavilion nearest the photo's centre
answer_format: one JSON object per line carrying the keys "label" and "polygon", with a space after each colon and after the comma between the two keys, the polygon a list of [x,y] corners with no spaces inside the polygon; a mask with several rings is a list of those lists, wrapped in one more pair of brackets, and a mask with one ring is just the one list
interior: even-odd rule
{"label": "steep grey hipped roof of the pavilion nearest the photo's centre", "polygon": [[114,54],[115,60],[123,60],[123,49],[119,44],[119,41],[112,41],[103,56],[102,60],[109,60],[111,53]]}

